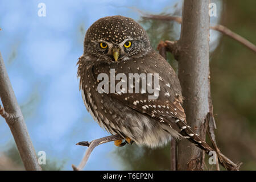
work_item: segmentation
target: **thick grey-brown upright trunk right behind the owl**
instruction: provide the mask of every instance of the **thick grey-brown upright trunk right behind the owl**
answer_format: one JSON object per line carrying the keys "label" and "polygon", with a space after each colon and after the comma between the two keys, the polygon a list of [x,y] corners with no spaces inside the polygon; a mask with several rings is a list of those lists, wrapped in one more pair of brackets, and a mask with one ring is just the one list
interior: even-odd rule
{"label": "thick grey-brown upright trunk right behind the owl", "polygon": [[[184,0],[181,35],[178,46],[179,80],[183,92],[188,125],[205,139],[209,113],[209,0]],[[204,152],[181,140],[177,169],[201,170]]]}

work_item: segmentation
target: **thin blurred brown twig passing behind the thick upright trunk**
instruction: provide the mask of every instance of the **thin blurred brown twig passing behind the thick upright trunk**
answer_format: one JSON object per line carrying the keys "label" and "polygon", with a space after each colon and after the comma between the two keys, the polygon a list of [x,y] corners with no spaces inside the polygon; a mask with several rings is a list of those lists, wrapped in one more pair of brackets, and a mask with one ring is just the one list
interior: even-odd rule
{"label": "thin blurred brown twig passing behind the thick upright trunk", "polygon": [[[182,23],[182,20],[179,16],[144,14],[142,18],[164,20],[164,21],[175,21],[177,23]],[[243,46],[251,49],[251,51],[256,52],[256,46],[253,43],[249,42],[249,40],[231,31],[229,28],[222,26],[221,24],[212,25],[210,26],[210,29],[219,31],[222,34],[227,35],[234,40],[237,40],[237,42],[240,42],[241,44],[243,44]]]}

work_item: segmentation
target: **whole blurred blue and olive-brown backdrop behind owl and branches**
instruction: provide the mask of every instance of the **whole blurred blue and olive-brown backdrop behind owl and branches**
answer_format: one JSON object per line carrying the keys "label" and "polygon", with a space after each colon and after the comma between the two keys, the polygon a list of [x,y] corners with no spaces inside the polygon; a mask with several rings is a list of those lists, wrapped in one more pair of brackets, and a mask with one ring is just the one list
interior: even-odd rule
{"label": "whole blurred blue and olive-brown backdrop behind owl and branches", "polygon": [[[211,2],[217,5],[212,24],[220,23],[256,43],[256,1]],[[46,16],[38,16],[39,3],[45,3]],[[77,142],[109,135],[86,111],[76,77],[89,26],[104,16],[129,16],[142,24],[156,49],[160,40],[179,39],[180,25],[143,19],[140,11],[180,16],[181,7],[179,0],[0,1],[0,51],[35,150],[46,152],[43,169],[71,170],[86,149],[76,146]],[[177,69],[170,53],[167,59]],[[255,53],[210,31],[210,73],[217,144],[233,162],[243,163],[242,170],[255,170]],[[10,129],[0,117],[0,170],[10,169],[24,167]],[[93,151],[85,169],[168,170],[170,145],[152,150],[102,144]]]}

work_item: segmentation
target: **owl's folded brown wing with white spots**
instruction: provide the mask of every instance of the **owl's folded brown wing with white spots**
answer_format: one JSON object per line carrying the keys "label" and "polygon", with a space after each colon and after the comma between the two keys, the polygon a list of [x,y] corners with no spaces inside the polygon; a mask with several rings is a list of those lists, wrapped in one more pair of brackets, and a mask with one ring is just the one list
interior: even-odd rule
{"label": "owl's folded brown wing with white spots", "polygon": [[[154,73],[158,73],[159,86],[157,88],[153,86],[154,89],[158,90],[158,94],[156,95],[159,95],[155,100],[149,99],[154,93],[148,93],[147,90],[142,90],[141,86],[139,93],[109,93],[109,96],[131,109],[137,110],[139,113],[144,113],[175,129],[178,129],[175,124],[177,119],[185,122],[185,113],[181,106],[183,97],[181,96],[179,80],[171,65],[158,53],[152,52],[141,59],[130,60],[130,62],[123,61],[113,64],[110,67],[97,67],[97,71],[94,71],[96,73],[94,77],[97,78],[97,73],[100,73],[101,69],[105,69],[106,71],[106,68],[115,69],[116,73],[125,73],[127,77],[129,73],[138,73],[139,75],[141,73],[152,73],[153,75]],[[127,78],[127,82],[128,80]],[[151,84],[154,85],[154,80]]]}

